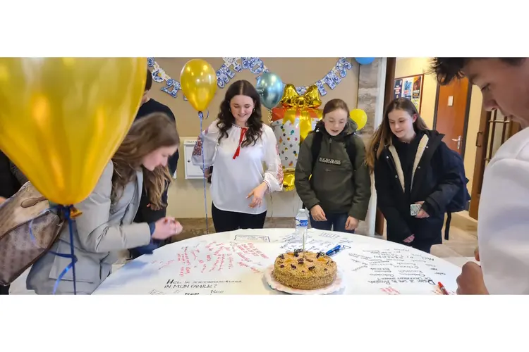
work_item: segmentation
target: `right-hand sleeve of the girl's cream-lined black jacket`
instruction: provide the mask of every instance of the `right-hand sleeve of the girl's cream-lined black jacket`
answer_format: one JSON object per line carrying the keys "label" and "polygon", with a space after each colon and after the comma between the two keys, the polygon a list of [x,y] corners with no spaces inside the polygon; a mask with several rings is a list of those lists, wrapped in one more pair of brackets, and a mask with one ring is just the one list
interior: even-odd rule
{"label": "right-hand sleeve of the girl's cream-lined black jacket", "polygon": [[432,159],[434,165],[441,166],[441,168],[437,167],[436,169],[442,172],[442,176],[439,177],[439,182],[433,193],[422,204],[422,209],[430,216],[445,213],[446,206],[454,198],[459,188],[463,186],[459,175],[458,159],[444,142],[441,142]]}

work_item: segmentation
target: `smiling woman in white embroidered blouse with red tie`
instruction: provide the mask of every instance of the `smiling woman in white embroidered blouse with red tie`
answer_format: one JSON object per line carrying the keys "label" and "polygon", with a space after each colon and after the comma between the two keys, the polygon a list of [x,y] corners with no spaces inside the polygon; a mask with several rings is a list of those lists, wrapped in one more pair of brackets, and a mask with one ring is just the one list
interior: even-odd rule
{"label": "smiling woman in white embroidered blouse with red tie", "polygon": [[282,190],[283,169],[276,136],[262,122],[259,94],[250,82],[233,82],[227,89],[217,120],[197,139],[193,164],[205,177],[214,165],[210,190],[217,232],[264,227],[264,196]]}

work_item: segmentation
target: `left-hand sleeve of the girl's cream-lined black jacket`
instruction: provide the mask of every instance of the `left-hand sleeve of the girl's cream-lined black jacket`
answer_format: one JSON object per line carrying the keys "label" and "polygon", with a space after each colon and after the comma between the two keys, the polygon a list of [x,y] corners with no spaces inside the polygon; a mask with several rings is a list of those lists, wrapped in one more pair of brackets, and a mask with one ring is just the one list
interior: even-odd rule
{"label": "left-hand sleeve of the girl's cream-lined black jacket", "polygon": [[408,223],[404,220],[396,207],[391,194],[391,173],[385,161],[375,163],[375,189],[377,190],[377,206],[384,214],[384,218],[391,227],[392,234],[406,239],[412,235]]}

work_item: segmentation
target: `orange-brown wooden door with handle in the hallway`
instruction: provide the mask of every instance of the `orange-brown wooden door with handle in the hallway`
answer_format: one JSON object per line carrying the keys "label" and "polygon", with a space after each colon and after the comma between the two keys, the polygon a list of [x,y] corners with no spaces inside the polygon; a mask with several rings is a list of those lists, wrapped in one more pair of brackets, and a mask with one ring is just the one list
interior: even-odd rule
{"label": "orange-brown wooden door with handle in the hallway", "polygon": [[465,155],[470,93],[467,78],[437,87],[434,129],[444,134],[443,142],[461,157]]}

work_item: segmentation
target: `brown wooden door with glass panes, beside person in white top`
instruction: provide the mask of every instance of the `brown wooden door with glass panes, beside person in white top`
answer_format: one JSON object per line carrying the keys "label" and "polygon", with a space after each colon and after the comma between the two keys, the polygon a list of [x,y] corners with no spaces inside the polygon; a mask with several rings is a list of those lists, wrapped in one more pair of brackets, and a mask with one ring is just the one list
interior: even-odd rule
{"label": "brown wooden door with glass panes, beside person in white top", "polygon": [[468,215],[470,218],[478,220],[478,210],[480,208],[481,187],[483,185],[483,175],[490,159],[494,156],[501,144],[521,130],[520,124],[506,118],[499,111],[482,110],[480,118],[480,128],[476,134],[475,146],[475,168],[470,191],[470,208]]}

